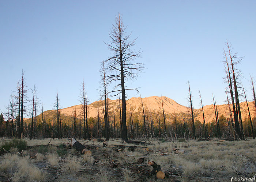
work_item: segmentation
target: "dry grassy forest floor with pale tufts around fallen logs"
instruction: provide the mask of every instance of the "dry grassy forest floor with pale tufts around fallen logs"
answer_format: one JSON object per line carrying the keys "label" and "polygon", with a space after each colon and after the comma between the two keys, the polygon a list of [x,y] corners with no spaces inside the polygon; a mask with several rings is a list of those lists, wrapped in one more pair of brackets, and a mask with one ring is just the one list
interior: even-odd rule
{"label": "dry grassy forest floor with pale tufts around fallen logs", "polygon": [[[137,146],[133,151],[131,147],[116,146],[132,145],[120,139],[107,142],[105,147],[97,140],[80,140],[91,150],[91,155],[80,154],[69,145],[68,139],[25,140],[27,149],[22,153],[11,148],[0,155],[0,182],[230,182],[232,177],[252,178],[256,174],[255,139],[173,142],[151,139],[145,141],[151,145],[133,145]],[[174,147],[185,153],[176,154]],[[123,150],[118,151],[120,148]],[[161,166],[164,179],[151,174],[153,167],[148,161]]]}

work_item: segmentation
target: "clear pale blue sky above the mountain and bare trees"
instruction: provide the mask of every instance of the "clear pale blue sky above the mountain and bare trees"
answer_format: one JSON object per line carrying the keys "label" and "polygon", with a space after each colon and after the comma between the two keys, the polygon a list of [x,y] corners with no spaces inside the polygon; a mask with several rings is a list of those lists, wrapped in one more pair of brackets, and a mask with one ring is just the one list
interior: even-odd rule
{"label": "clear pale blue sky above the mountain and bare trees", "polygon": [[[16,90],[25,71],[28,88],[38,88],[45,110],[79,104],[84,78],[91,102],[99,99],[99,68],[110,56],[115,15],[123,14],[135,50],[141,48],[146,69],[128,87],[142,97],[167,96],[188,106],[189,80],[195,108],[226,100],[222,51],[228,39],[238,55],[238,68],[252,99],[249,74],[256,76],[256,1],[0,1],[0,109]],[[110,88],[111,89],[111,88]],[[29,94],[31,96],[31,94]],[[128,92],[128,98],[136,92]],[[115,99],[115,98],[114,98]]]}

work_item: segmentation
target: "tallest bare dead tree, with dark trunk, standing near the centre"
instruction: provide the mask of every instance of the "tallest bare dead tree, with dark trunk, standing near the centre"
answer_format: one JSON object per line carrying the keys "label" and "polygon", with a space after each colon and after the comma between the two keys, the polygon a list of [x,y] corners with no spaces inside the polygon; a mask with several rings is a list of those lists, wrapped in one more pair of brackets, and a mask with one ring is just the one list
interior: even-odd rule
{"label": "tallest bare dead tree, with dark trunk, standing near the centre", "polygon": [[[115,82],[117,85],[112,92],[121,93],[122,95],[122,127],[123,127],[123,141],[127,141],[127,126],[126,126],[126,100],[125,91],[131,90],[125,88],[127,79],[133,80],[138,76],[138,71],[141,71],[142,63],[135,63],[134,59],[140,56],[141,52],[135,52],[135,40],[129,41],[130,35],[125,31],[126,27],[123,24],[122,16],[116,16],[115,24],[109,31],[110,41],[106,43],[112,56],[105,62],[108,63],[107,70],[110,73],[108,77],[109,83]],[[121,87],[121,88],[120,88]],[[116,94],[116,95],[118,95]]]}

